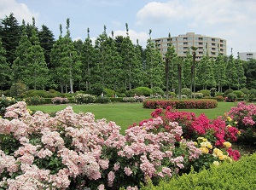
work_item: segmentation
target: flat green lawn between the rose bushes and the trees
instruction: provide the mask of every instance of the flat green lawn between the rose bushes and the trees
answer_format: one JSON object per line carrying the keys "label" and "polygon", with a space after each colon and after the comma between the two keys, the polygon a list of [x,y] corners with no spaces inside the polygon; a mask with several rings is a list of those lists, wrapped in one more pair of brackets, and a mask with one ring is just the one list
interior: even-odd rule
{"label": "flat green lawn between the rose bushes and the trees", "polygon": [[[142,103],[113,103],[113,104],[90,104],[90,105],[71,105],[74,112],[92,112],[96,119],[106,118],[107,121],[114,121],[121,126],[121,133],[124,134],[128,126],[139,123],[143,119],[151,118],[150,113],[153,109],[143,108]],[[208,118],[217,118],[229,112],[230,107],[235,107],[236,103],[218,102],[218,107],[214,109],[185,109],[186,112],[195,112],[197,116],[205,113]],[[67,107],[67,105],[40,105],[28,106],[29,109],[43,112],[57,112]]]}

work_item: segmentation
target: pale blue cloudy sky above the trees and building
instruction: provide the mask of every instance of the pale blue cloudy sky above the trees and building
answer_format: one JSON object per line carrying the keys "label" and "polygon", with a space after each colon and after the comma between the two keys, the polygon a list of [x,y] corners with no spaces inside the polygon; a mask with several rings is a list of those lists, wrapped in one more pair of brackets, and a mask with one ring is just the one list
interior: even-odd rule
{"label": "pale blue cloudy sky above the trees and building", "polygon": [[15,15],[18,22],[49,27],[57,39],[60,25],[66,33],[70,19],[73,40],[87,37],[95,41],[104,25],[110,36],[126,36],[125,23],[133,43],[146,45],[151,38],[172,37],[195,32],[227,41],[227,55],[256,52],[255,0],[0,0],[0,19]]}

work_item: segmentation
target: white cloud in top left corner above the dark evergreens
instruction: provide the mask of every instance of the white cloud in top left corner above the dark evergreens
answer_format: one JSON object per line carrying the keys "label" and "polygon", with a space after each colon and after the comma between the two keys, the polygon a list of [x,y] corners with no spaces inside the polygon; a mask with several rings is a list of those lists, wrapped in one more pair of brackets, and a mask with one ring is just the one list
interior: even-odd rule
{"label": "white cloud in top left corner above the dark evergreens", "polygon": [[13,13],[20,24],[22,23],[22,20],[32,23],[32,17],[34,17],[37,22],[39,14],[28,9],[25,3],[17,3],[15,0],[0,0],[0,4],[1,19],[4,19],[5,16],[9,16],[10,13]]}

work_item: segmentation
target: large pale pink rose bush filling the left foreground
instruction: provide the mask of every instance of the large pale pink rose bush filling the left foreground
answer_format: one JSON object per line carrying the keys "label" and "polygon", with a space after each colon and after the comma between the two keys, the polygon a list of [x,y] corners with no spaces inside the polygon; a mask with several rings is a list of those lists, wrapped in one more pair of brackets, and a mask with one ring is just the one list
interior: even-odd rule
{"label": "large pale pink rose bush filling the left foreground", "polygon": [[201,155],[176,121],[154,117],[120,127],[67,107],[50,117],[19,101],[0,118],[0,187],[21,189],[138,189],[177,175]]}

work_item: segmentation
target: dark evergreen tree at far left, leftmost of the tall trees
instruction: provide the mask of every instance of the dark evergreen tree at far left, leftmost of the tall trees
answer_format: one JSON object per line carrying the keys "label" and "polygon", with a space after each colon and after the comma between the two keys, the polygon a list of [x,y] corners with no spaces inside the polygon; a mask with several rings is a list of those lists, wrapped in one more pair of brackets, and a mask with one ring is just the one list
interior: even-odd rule
{"label": "dark evergreen tree at far left, leftmost of the tall trees", "polygon": [[6,50],[6,60],[11,66],[16,59],[15,49],[19,46],[20,41],[20,26],[13,13],[1,20],[0,37],[3,48]]}

